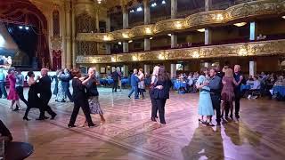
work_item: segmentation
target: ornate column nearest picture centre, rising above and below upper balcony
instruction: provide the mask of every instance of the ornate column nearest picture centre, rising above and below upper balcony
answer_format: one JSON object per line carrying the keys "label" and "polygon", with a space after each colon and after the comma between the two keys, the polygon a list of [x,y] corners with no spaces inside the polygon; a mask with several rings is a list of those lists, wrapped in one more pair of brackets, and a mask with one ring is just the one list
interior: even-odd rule
{"label": "ornate column nearest picture centre, rising above and below upper balcony", "polygon": [[[151,9],[150,9],[150,0],[143,0],[144,7],[144,24],[151,24]],[[144,38],[144,51],[151,50],[151,40],[149,37]]]}

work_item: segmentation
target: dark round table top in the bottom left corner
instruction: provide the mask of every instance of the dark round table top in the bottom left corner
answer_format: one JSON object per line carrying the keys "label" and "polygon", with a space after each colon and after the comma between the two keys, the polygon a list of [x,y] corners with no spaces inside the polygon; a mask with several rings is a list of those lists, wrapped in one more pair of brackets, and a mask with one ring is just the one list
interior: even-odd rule
{"label": "dark round table top in the bottom left corner", "polygon": [[5,159],[21,160],[30,156],[34,152],[34,147],[25,142],[12,141],[5,147]]}

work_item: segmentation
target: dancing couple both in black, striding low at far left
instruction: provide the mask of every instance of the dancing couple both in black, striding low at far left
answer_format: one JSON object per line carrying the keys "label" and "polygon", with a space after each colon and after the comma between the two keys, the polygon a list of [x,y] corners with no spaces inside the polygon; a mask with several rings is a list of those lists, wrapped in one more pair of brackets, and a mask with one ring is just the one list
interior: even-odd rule
{"label": "dancing couple both in black, striding low at far left", "polygon": [[[37,118],[37,120],[45,120],[49,118],[45,116],[45,111],[52,116],[51,119],[54,119],[55,116],[57,116],[56,113],[53,112],[53,109],[48,105],[52,98],[52,80],[48,76],[47,68],[41,69],[41,76],[42,77],[37,76],[35,78],[34,72],[28,72],[28,107],[23,120],[29,120],[28,112],[31,108],[39,108],[40,116]],[[38,93],[40,94],[39,97],[37,96]]]}

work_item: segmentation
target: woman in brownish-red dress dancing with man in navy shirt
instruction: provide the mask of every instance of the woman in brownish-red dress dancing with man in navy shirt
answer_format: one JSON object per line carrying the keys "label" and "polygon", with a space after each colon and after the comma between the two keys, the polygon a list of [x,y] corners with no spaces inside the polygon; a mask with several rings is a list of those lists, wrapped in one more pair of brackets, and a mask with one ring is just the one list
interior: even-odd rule
{"label": "woman in brownish-red dress dancing with man in navy shirt", "polygon": [[232,101],[234,100],[234,85],[239,85],[241,83],[242,78],[240,78],[239,82],[236,82],[233,78],[233,73],[231,68],[225,69],[224,77],[223,77],[223,90],[222,90],[222,117],[224,115],[224,107],[225,103],[228,103],[231,108],[231,118],[232,118],[232,110],[233,105]]}

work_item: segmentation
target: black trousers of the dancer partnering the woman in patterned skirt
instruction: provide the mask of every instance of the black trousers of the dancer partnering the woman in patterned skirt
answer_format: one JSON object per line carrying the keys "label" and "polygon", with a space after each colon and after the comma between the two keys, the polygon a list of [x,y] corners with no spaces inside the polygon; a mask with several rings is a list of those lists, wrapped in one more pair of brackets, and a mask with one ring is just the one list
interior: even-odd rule
{"label": "black trousers of the dancer partnering the woman in patterned skirt", "polygon": [[73,108],[73,111],[72,111],[72,114],[71,114],[71,117],[70,117],[69,124],[70,125],[74,125],[75,124],[75,122],[77,120],[77,115],[78,115],[78,112],[79,112],[79,108],[82,108],[88,125],[89,126],[93,125],[92,118],[90,116],[90,108],[89,108],[89,106],[85,106],[85,105],[81,106],[80,104],[77,104],[77,103],[74,103],[74,108]]}

